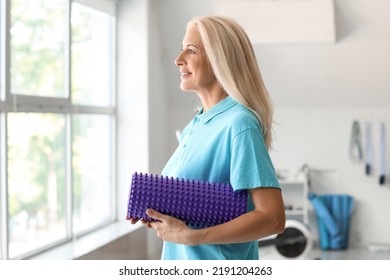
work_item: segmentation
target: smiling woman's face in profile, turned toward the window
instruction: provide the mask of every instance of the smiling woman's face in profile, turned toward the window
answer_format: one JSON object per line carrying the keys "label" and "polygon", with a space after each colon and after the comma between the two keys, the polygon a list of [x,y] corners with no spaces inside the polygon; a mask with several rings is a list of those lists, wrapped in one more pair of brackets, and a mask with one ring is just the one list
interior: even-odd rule
{"label": "smiling woman's face in profile, turned toward the window", "polygon": [[180,68],[180,88],[184,91],[204,94],[217,84],[195,25],[187,28],[182,51],[176,58],[175,64]]}

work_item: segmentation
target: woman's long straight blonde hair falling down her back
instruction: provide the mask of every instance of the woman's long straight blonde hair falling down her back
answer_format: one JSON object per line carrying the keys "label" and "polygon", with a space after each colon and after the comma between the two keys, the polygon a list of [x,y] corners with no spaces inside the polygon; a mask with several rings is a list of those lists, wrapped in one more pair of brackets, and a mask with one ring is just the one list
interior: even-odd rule
{"label": "woman's long straight blonde hair falling down her back", "polygon": [[260,122],[267,149],[272,146],[273,108],[253,46],[242,27],[221,16],[198,17],[195,24],[215,77],[223,90],[252,110]]}

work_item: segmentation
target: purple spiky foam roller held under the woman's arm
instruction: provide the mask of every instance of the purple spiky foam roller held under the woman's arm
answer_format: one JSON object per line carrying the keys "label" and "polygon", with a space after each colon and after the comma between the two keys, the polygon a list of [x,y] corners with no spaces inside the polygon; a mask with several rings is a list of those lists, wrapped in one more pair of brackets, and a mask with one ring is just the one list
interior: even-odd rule
{"label": "purple spiky foam roller held under the woman's arm", "polygon": [[136,172],[132,177],[127,216],[153,221],[145,213],[148,208],[194,227],[209,227],[244,214],[247,192],[234,191],[229,184]]}

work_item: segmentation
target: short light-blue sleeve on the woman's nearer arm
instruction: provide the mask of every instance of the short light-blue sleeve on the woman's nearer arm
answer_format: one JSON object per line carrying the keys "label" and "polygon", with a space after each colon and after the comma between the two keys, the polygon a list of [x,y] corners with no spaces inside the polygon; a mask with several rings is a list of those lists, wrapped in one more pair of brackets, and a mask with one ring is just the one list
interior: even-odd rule
{"label": "short light-blue sleeve on the woman's nearer arm", "polygon": [[234,190],[280,188],[262,133],[248,128],[232,140],[230,182]]}

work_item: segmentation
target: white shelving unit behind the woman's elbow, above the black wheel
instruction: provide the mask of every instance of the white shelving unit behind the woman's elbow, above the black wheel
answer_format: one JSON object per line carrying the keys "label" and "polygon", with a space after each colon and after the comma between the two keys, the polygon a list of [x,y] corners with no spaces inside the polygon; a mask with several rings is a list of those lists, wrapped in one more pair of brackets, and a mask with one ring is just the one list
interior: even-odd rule
{"label": "white shelving unit behind the woman's elbow, above the black wheel", "polygon": [[286,219],[300,220],[308,224],[308,184],[305,180],[280,180]]}

